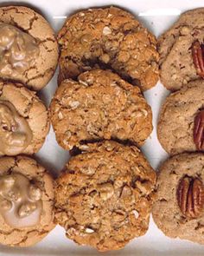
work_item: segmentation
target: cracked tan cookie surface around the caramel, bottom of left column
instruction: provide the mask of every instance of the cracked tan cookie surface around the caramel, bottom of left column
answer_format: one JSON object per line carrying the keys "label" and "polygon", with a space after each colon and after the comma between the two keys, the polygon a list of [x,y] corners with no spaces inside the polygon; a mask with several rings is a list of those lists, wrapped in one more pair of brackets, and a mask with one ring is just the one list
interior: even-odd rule
{"label": "cracked tan cookie surface around the caramel, bottom of left column", "polygon": [[[40,221],[34,226],[26,226],[22,222],[18,227],[13,227],[8,224],[8,220],[5,221],[3,216],[3,206],[1,206],[0,213],[0,243],[9,246],[31,246],[40,241],[48,232],[54,228],[54,191],[53,181],[49,174],[41,167],[35,160],[25,157],[3,157],[0,159],[0,181],[2,177],[14,177],[19,174],[29,179],[36,187],[41,189],[41,216]],[[25,178],[24,178],[25,179]],[[23,185],[24,186],[24,185]],[[3,187],[1,186],[1,196]],[[14,187],[15,189],[15,187]],[[21,187],[22,189],[22,187]],[[17,191],[10,190],[10,196],[13,194],[16,197]],[[22,194],[25,196],[25,194]],[[1,200],[2,203],[2,200]],[[21,209],[22,210],[22,209]],[[27,209],[28,210],[28,209]],[[21,212],[22,213],[22,212]],[[22,216],[23,218],[23,216]],[[9,223],[15,220],[10,220]],[[30,221],[30,220],[29,220]],[[19,221],[20,222],[20,221]]]}

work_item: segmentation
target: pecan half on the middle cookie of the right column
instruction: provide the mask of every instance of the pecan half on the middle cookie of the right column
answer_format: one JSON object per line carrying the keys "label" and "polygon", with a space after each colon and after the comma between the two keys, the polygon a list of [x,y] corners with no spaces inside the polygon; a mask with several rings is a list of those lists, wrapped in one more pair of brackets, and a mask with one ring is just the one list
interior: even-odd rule
{"label": "pecan half on the middle cookie of the right column", "polygon": [[194,144],[198,150],[204,150],[204,109],[194,118]]}

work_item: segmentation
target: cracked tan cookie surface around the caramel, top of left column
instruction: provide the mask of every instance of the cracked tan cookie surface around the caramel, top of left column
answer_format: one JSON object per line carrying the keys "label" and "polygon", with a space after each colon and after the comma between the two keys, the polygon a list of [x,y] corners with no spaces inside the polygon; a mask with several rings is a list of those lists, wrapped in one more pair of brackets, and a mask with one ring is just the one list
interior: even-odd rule
{"label": "cracked tan cookie surface around the caramel, top of left column", "polygon": [[[58,44],[54,37],[54,30],[50,27],[44,17],[34,10],[23,6],[1,7],[0,24],[13,25],[19,31],[32,36],[39,51],[37,52],[38,54],[34,56],[32,65],[28,67],[28,69],[19,73],[12,72],[10,75],[5,71],[3,73],[0,72],[0,77],[22,82],[30,89],[42,89],[54,75],[54,70],[57,65]],[[0,36],[0,44],[3,43],[3,39],[4,38],[1,38]],[[25,53],[22,50],[22,43],[16,43],[20,43],[18,46],[19,52],[17,51],[16,54],[19,54],[22,57],[22,53]]]}

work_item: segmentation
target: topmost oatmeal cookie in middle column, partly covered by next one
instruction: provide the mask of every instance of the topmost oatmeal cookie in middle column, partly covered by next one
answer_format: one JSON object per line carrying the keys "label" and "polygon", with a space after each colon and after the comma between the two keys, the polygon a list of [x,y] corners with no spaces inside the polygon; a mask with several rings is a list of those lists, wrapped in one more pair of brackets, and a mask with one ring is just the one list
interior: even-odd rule
{"label": "topmost oatmeal cookie in middle column, partly covered by next one", "polygon": [[82,10],[67,18],[58,43],[59,83],[93,68],[112,69],[143,91],[158,81],[156,38],[127,11]]}

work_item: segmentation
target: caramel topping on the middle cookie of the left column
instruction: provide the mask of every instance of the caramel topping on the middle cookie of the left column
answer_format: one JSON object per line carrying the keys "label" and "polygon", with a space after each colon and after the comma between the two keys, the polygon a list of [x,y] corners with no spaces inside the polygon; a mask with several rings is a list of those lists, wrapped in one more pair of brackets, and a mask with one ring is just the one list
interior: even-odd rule
{"label": "caramel topping on the middle cookie of the left column", "polygon": [[0,100],[0,152],[7,155],[20,154],[29,146],[32,138],[28,121],[18,115],[10,102]]}

